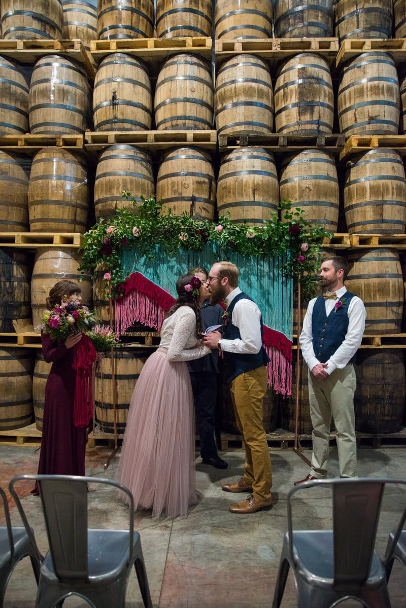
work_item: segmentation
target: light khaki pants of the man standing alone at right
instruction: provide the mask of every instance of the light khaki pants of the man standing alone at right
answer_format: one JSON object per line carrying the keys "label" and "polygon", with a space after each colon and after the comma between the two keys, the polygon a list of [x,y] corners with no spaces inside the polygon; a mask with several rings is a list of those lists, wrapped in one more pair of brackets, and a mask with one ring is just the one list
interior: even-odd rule
{"label": "light khaki pants of the man standing alone at right", "polygon": [[354,393],[357,379],[352,364],[334,370],[318,381],[309,370],[309,402],[312,419],[313,454],[310,475],[327,475],[331,417],[337,429],[336,441],[340,477],[357,477]]}

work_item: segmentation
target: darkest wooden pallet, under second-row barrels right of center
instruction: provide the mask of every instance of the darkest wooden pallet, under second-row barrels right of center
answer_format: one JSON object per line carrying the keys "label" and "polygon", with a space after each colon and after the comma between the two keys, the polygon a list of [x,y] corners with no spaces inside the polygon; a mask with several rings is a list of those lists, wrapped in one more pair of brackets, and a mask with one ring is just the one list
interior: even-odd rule
{"label": "darkest wooden pallet, under second-row barrels right of center", "polygon": [[345,144],[345,137],[334,135],[279,135],[268,133],[256,135],[250,133],[219,135],[219,151],[228,152],[243,146],[261,146],[269,152],[289,153],[308,148],[321,148],[331,154],[340,153]]}

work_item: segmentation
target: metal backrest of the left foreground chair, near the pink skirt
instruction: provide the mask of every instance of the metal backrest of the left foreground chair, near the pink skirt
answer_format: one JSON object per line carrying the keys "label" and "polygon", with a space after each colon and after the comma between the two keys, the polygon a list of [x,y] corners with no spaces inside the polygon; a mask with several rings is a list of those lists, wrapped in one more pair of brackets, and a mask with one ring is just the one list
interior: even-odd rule
{"label": "metal backrest of the left foreground chair, near the pink skirt", "polygon": [[[88,483],[104,483],[125,492],[130,499],[130,559],[133,554],[134,502],[128,488],[110,479],[74,475],[19,475],[10,482],[10,492],[20,514],[24,514],[14,485],[35,480],[40,492],[46,532],[55,573],[63,581],[88,579]],[[21,515],[24,525],[26,516]]]}

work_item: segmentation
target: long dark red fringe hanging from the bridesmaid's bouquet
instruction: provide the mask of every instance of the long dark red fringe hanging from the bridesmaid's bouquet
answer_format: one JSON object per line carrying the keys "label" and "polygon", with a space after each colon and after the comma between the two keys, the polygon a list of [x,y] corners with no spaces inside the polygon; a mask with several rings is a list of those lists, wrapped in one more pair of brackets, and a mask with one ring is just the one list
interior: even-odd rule
{"label": "long dark red fringe hanging from the bridesmaid's bouquet", "polygon": [[93,416],[93,364],[97,353],[86,334],[75,348],[73,367],[76,370],[74,425],[86,427]]}

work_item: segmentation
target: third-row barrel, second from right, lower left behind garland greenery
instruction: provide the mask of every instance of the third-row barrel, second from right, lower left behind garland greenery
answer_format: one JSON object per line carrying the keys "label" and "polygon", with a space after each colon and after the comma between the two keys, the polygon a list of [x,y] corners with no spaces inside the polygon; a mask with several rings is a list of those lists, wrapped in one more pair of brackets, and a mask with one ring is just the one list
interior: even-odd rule
{"label": "third-row barrel, second from right, lower left behind garland greenery", "polygon": [[304,219],[337,232],[340,195],[332,156],[322,150],[303,150],[287,157],[281,164],[279,188],[281,200],[302,209]]}

